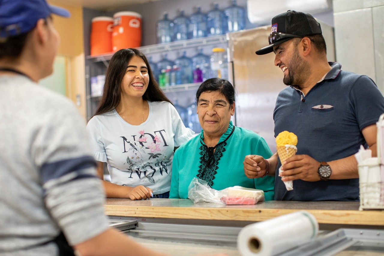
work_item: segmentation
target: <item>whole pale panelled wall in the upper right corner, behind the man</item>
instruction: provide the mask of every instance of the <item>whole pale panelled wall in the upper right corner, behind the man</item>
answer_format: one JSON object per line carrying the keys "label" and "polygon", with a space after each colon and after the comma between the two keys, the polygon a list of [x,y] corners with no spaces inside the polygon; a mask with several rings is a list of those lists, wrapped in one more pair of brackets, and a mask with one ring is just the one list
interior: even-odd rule
{"label": "whole pale panelled wall in the upper right corner, behind the man", "polygon": [[384,0],[333,0],[336,59],[384,92]]}

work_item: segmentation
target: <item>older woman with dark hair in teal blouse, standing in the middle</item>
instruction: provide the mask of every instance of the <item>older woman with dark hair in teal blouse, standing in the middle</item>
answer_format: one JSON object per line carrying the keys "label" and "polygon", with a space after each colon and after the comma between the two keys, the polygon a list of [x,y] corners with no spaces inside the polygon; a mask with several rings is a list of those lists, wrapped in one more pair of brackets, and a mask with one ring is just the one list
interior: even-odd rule
{"label": "older woman with dark hair in teal blouse, standing in the middle", "polygon": [[169,198],[188,198],[188,186],[197,177],[216,190],[236,185],[257,188],[264,191],[265,200],[273,200],[275,177],[249,179],[244,174],[246,155],[268,159],[272,152],[260,135],[233,126],[232,84],[225,79],[208,79],[197,89],[196,102],[202,132],[176,150]]}

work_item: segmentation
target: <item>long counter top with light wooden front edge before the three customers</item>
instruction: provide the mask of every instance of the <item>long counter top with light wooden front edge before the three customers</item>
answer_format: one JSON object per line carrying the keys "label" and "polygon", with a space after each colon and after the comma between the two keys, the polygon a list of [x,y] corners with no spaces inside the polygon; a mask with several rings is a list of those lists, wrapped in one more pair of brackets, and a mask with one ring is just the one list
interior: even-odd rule
{"label": "long counter top with light wooden front edge before the three customers", "polygon": [[298,210],[312,213],[318,223],[384,226],[384,210],[359,211],[359,202],[266,201],[256,205],[193,203],[189,199],[132,201],[106,198],[106,215],[197,220],[264,221]]}

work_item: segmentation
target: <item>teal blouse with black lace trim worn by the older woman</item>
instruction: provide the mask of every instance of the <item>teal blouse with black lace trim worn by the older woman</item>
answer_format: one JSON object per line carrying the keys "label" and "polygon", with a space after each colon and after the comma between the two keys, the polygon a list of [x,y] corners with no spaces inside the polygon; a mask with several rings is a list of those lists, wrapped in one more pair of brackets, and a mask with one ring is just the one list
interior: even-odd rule
{"label": "teal blouse with black lace trim worn by the older woman", "polygon": [[265,200],[273,200],[275,177],[250,179],[244,174],[243,161],[246,155],[261,155],[265,159],[272,155],[260,135],[234,127],[231,121],[227,131],[221,136],[211,161],[208,161],[208,166],[204,160],[209,159],[209,152],[203,138],[201,132],[176,150],[169,198],[188,198],[188,186],[192,178],[197,177],[206,180],[215,190],[236,185],[257,188],[264,191]]}

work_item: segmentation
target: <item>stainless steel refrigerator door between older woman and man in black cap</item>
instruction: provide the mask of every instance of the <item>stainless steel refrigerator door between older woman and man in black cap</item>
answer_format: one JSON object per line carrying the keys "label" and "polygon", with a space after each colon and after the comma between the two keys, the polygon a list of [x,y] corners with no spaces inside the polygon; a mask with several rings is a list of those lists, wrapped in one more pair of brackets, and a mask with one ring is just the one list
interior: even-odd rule
{"label": "stainless steel refrigerator door between older woman and man in black cap", "polygon": [[230,33],[228,48],[233,62],[233,84],[238,97],[235,104],[236,126],[261,135],[272,152],[276,151],[273,110],[283,84],[281,69],[274,66],[275,55],[256,55],[268,44],[270,26]]}

